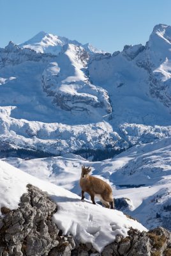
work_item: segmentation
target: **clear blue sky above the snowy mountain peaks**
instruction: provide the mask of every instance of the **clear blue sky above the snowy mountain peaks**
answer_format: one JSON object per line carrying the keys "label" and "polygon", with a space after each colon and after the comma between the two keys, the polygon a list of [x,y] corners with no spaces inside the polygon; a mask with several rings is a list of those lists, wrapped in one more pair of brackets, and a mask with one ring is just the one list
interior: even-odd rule
{"label": "clear blue sky above the snowy mountain peaks", "polygon": [[171,25],[170,0],[0,0],[0,10],[0,47],[46,31],[114,52]]}

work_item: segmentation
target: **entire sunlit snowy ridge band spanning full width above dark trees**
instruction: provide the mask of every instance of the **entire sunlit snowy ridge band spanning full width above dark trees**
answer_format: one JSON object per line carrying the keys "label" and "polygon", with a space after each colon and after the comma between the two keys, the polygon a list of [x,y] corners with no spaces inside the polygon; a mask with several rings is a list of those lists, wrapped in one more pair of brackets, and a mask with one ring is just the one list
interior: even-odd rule
{"label": "entire sunlit snowy ridge band spanning full width above dark trees", "polygon": [[64,154],[80,149],[128,148],[171,136],[171,127],[159,125],[119,125],[118,133],[107,122],[87,125],[46,124],[11,118],[15,107],[0,107],[0,140],[11,145]]}

